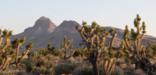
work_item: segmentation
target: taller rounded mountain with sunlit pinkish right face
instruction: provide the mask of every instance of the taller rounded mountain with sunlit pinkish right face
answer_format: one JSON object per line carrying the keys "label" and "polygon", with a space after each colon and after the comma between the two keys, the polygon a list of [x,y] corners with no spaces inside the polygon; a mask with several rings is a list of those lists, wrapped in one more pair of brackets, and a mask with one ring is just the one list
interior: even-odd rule
{"label": "taller rounded mountain with sunlit pinkish right face", "polygon": [[40,17],[33,27],[29,27],[24,32],[14,35],[12,38],[26,38],[26,43],[32,42],[34,47],[39,47],[39,44],[49,38],[51,33],[56,28],[56,25],[47,17]]}

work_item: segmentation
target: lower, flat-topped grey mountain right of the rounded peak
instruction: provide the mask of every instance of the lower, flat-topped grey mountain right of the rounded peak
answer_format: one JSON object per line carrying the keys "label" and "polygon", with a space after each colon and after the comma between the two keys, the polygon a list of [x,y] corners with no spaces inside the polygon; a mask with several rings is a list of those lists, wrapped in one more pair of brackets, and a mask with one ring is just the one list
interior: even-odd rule
{"label": "lower, flat-topped grey mountain right of the rounded peak", "polygon": [[63,21],[58,27],[56,27],[49,40],[52,41],[54,46],[59,47],[63,38],[68,37],[72,40],[73,45],[78,47],[81,42],[81,37],[75,29],[76,26],[80,26],[76,21]]}

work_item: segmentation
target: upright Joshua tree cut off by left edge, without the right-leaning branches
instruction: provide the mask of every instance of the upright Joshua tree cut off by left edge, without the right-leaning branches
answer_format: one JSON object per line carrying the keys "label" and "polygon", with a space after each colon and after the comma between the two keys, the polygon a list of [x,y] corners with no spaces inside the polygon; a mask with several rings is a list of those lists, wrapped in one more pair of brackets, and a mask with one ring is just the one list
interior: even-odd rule
{"label": "upright Joshua tree cut off by left edge, without the right-leaning branches", "polygon": [[2,57],[2,63],[0,65],[0,70],[5,70],[12,60],[13,51],[11,51],[10,46],[10,37],[12,35],[12,31],[8,30],[0,30],[0,55]]}

